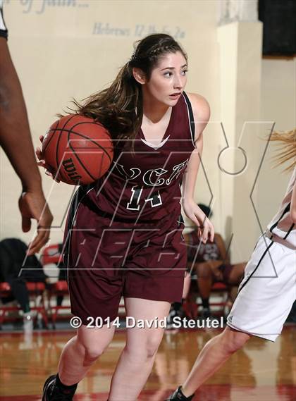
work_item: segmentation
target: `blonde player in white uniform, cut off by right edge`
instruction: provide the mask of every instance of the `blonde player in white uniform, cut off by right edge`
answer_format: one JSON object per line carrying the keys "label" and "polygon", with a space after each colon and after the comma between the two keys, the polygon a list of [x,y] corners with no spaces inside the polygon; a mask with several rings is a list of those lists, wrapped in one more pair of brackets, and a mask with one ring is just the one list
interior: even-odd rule
{"label": "blonde player in white uniform, cut off by right edge", "polygon": [[275,132],[271,140],[285,144],[279,163],[292,159],[290,169],[294,170],[288,190],[246,266],[228,327],[206,343],[187,380],[168,401],[192,400],[195,390],[252,335],[276,341],[295,302],[296,129],[285,134]]}

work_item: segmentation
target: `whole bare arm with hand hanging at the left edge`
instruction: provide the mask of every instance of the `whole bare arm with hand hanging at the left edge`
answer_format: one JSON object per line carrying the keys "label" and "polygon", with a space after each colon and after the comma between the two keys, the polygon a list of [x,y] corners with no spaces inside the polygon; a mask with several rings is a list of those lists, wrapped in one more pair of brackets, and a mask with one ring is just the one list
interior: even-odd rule
{"label": "whole bare arm with hand hanging at the left edge", "polygon": [[5,38],[0,37],[0,144],[22,183],[19,208],[22,228],[38,223],[37,236],[29,254],[38,252],[49,239],[52,216],[42,192],[42,180],[36,164],[23,92],[13,66]]}

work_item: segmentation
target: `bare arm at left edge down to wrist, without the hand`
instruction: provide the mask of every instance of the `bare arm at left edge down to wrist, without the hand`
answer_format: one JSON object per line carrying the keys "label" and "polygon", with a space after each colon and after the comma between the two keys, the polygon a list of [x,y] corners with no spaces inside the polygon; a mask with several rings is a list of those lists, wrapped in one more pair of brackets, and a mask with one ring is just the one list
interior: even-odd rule
{"label": "bare arm at left edge down to wrist, without the hand", "polygon": [[[1,46],[1,51],[3,49]],[[4,57],[8,56],[8,62]],[[25,101],[8,50],[0,59],[0,144],[18,174],[24,190],[41,190]]]}

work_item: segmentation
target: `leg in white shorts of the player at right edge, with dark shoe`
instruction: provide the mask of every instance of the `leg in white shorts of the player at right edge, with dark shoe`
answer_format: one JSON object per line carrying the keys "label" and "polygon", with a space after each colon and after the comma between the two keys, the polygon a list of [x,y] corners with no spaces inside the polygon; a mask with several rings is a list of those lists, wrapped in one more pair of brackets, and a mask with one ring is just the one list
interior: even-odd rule
{"label": "leg in white shorts of the player at right edge, with dark shoe", "polygon": [[295,301],[293,252],[261,237],[246,266],[245,278],[228,316],[230,327],[204,346],[189,378],[178,393],[176,391],[169,398],[170,401],[190,400],[190,394],[242,347],[250,335],[276,340]]}

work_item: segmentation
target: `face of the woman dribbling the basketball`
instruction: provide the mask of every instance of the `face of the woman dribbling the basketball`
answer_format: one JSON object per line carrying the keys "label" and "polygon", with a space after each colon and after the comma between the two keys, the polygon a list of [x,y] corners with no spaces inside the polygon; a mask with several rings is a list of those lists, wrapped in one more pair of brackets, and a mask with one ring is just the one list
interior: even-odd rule
{"label": "face of the woman dribbling the basketball", "polygon": [[175,106],[187,82],[187,62],[180,51],[167,53],[152,70],[149,82],[144,84],[144,94]]}

